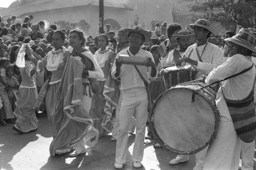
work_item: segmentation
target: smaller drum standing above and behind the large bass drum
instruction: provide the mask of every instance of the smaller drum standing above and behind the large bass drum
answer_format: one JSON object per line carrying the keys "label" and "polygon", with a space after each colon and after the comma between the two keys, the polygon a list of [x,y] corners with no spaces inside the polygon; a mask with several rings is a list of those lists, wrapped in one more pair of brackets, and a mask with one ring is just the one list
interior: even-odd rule
{"label": "smaller drum standing above and behind the large bass drum", "polygon": [[195,80],[196,69],[192,66],[173,66],[161,71],[164,78],[165,90],[176,86],[177,84]]}

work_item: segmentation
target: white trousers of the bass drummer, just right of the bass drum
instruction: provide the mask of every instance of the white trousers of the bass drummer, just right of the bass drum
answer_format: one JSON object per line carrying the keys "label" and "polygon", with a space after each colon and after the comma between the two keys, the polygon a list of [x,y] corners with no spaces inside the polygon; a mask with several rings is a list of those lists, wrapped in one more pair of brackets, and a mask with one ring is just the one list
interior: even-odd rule
{"label": "white trousers of the bass drummer, just right of the bass drum", "polygon": [[234,130],[232,120],[220,117],[217,136],[209,145],[203,169],[237,170],[241,145],[242,140]]}

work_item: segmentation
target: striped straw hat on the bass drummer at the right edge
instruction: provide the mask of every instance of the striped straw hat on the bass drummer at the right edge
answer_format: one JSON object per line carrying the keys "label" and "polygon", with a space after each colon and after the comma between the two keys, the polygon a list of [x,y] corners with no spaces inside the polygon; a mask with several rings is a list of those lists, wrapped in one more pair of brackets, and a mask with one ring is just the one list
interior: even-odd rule
{"label": "striped straw hat on the bass drummer at the right edge", "polygon": [[236,44],[249,49],[253,53],[256,53],[256,35],[254,35],[253,31],[247,28],[242,28],[236,35],[232,36],[231,38],[226,38],[223,41],[228,46]]}

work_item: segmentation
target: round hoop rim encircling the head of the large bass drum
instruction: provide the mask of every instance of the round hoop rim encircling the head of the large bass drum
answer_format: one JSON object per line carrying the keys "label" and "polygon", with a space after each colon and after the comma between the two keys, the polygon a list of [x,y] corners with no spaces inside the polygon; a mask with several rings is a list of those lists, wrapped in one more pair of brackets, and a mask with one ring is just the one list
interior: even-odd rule
{"label": "round hoop rim encircling the head of the large bass drum", "polygon": [[[183,83],[183,85],[184,85],[184,84],[185,84],[185,83]],[[195,84],[195,83],[194,83],[194,84]],[[187,85],[189,85],[189,83],[187,83]],[[180,84],[178,84],[177,86],[180,86]],[[177,86],[175,86],[175,87],[177,87]],[[195,150],[195,151],[189,151],[189,152],[185,151],[185,152],[184,152],[184,151],[178,151],[178,150],[175,150],[175,149],[172,148],[172,147],[169,147],[168,145],[166,145],[166,144],[161,140],[161,138],[159,137],[159,135],[157,134],[157,132],[156,132],[156,130],[155,130],[155,128],[154,128],[154,127],[155,127],[155,124],[154,124],[153,115],[154,115],[154,111],[155,111],[156,104],[158,103],[159,99],[162,98],[164,95],[166,95],[169,91],[173,91],[173,90],[177,90],[177,89],[188,89],[188,90],[191,90],[191,91],[193,91],[193,92],[196,92],[196,91],[193,90],[193,89],[189,89],[189,88],[182,87],[182,86],[179,87],[179,88],[175,88],[175,87],[170,88],[170,89],[164,91],[162,94],[160,94],[160,95],[156,98],[156,100],[154,100],[154,102],[153,102],[153,104],[152,104],[152,109],[151,109],[151,111],[150,111],[150,119],[148,120],[148,123],[149,123],[149,125],[151,126],[151,129],[152,129],[152,132],[153,132],[154,136],[157,137],[157,138],[156,138],[157,142],[158,142],[163,148],[165,148],[165,150],[167,150],[167,151],[169,151],[169,152],[176,153],[176,154],[183,154],[183,155],[192,155],[192,154],[196,154],[196,153],[202,151],[207,145],[209,145],[209,144],[216,138],[217,131],[218,131],[218,127],[219,127],[219,111],[218,111],[218,109],[217,109],[217,107],[216,107],[216,104],[212,104],[211,102],[209,102],[209,101],[211,101],[209,98],[207,98],[205,95],[202,95],[202,92],[201,92],[201,91],[197,91],[198,94],[200,94],[204,99],[206,99],[208,103],[210,103],[210,106],[211,106],[211,108],[212,108],[212,110],[213,110],[213,112],[214,112],[214,115],[215,115],[215,131],[214,131],[214,134],[212,134],[210,140],[209,140],[204,146],[202,146],[201,148],[198,148],[198,149]],[[212,91],[212,90],[210,89],[210,91]],[[214,94],[216,94],[214,91],[212,91],[212,92],[213,92]]]}

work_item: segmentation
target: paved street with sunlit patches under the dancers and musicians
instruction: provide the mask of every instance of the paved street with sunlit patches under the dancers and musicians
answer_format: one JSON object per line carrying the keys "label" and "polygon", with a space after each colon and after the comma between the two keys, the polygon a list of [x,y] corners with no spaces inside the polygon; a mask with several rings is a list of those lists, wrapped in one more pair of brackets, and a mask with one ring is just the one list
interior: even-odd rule
{"label": "paved street with sunlit patches under the dancers and musicians", "polygon": [[[69,158],[68,154],[58,157],[49,155],[49,145],[52,141],[48,118],[38,118],[38,130],[33,133],[19,135],[12,130],[13,124],[0,126],[0,169],[1,170],[48,170],[48,169],[114,169],[116,142],[111,141],[111,135],[99,138],[97,146],[88,148],[87,154]],[[135,135],[129,136],[129,155],[123,169],[136,169],[132,166],[132,149]],[[169,160],[176,154],[163,148],[154,148],[156,140],[144,145],[143,167],[139,169],[192,169],[195,156],[190,156],[186,163],[171,166]]]}

